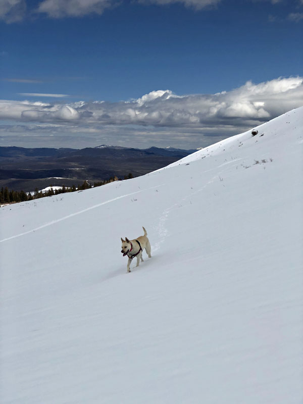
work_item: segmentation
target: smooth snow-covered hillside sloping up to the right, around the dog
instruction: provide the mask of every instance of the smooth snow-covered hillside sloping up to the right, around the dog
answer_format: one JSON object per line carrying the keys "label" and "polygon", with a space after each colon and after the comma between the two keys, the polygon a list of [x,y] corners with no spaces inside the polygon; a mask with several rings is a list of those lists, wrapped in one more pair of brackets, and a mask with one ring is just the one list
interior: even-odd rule
{"label": "smooth snow-covered hillside sloping up to the right, around the dog", "polygon": [[3,404],[303,401],[303,108],[256,129],[0,209]]}

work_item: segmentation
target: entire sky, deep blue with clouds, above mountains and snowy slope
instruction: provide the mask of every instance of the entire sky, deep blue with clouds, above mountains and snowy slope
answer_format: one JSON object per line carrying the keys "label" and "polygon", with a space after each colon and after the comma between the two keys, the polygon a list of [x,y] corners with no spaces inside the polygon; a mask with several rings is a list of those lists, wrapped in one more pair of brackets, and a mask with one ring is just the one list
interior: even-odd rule
{"label": "entire sky, deep blue with clouds, above mountains and snowy slope", "polygon": [[303,104],[302,0],[0,5],[0,145],[198,147]]}

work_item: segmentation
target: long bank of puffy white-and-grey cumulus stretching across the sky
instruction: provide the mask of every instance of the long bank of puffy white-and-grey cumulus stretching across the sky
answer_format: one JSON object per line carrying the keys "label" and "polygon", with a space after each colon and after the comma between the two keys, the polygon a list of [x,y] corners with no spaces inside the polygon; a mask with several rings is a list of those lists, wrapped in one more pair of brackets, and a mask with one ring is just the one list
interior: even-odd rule
{"label": "long bank of puffy white-and-grey cumulus stretching across the sky", "polygon": [[[171,90],[157,90],[118,103],[76,102],[62,105],[27,100],[4,101],[0,104],[0,117],[39,122],[79,120],[91,125],[184,127],[199,127],[218,121],[229,124],[231,119],[242,123],[264,121],[302,104],[302,82],[301,77],[278,78],[259,84],[247,81],[239,88],[217,94],[177,95]],[[47,94],[41,94],[44,95]]]}

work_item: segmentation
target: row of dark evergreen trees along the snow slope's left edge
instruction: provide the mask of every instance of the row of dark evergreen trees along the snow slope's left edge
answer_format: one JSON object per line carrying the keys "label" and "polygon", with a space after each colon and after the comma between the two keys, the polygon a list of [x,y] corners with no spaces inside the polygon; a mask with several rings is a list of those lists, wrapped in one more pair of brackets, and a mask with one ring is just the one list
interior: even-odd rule
{"label": "row of dark evergreen trees along the snow slope's left edge", "polygon": [[[125,180],[129,178],[133,178],[133,175],[131,173],[124,176]],[[51,188],[47,192],[41,192],[38,190],[38,188],[36,188],[33,195],[30,192],[24,192],[23,190],[14,191],[9,190],[8,187],[2,187],[0,190],[0,204],[24,202],[27,200],[43,198],[45,196],[59,195],[60,193],[75,192],[79,190],[95,188],[97,186],[109,184],[110,182],[114,181],[120,181],[120,179],[117,176],[114,176],[108,180],[97,181],[93,184],[89,183],[88,181],[84,181],[82,185],[78,185],[77,187],[74,184],[71,187],[66,187],[65,185],[63,185],[61,189],[53,189],[52,185],[50,185]]]}

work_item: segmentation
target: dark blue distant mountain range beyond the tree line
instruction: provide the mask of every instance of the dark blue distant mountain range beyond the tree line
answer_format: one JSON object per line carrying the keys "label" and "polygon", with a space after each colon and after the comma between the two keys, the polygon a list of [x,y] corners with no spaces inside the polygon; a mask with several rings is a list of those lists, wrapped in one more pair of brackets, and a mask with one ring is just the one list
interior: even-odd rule
{"label": "dark blue distant mountain range beyond the tree line", "polygon": [[110,177],[134,177],[164,167],[196,150],[100,145],[83,149],[0,147],[0,187],[32,191]]}

